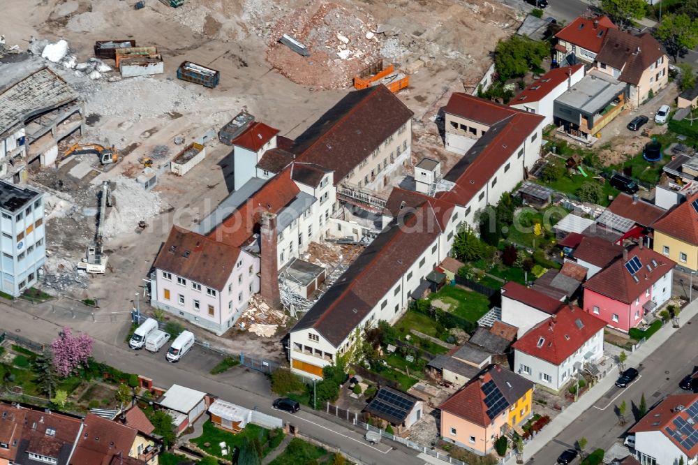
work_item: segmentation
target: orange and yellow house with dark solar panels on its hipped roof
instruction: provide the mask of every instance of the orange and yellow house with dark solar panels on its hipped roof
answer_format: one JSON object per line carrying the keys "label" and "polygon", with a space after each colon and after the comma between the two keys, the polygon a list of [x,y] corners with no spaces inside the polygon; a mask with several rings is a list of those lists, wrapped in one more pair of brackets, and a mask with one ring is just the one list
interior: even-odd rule
{"label": "orange and yellow house with dark solar panels on its hipped roof", "polygon": [[487,455],[499,436],[531,417],[533,385],[500,365],[491,365],[440,405],[442,438]]}

